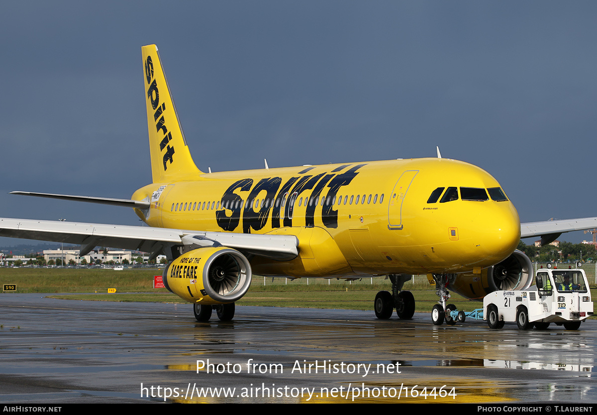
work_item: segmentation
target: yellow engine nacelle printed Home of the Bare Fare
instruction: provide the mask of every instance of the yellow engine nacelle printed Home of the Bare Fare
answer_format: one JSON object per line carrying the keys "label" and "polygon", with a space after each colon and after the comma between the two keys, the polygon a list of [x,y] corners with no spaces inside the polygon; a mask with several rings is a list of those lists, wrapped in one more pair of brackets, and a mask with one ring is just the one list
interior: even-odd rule
{"label": "yellow engine nacelle printed Home of the Bare Fare", "polygon": [[251,285],[251,265],[235,249],[204,247],[176,258],[164,270],[164,285],[180,298],[201,304],[238,301]]}

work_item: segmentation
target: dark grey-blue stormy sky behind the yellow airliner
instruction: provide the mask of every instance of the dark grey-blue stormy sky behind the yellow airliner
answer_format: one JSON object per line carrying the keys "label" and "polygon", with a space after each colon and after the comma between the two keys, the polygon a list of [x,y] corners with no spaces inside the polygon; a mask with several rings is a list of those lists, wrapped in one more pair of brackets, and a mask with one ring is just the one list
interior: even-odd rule
{"label": "dark grey-blue stormy sky behind the yellow airliner", "polygon": [[22,1],[0,13],[0,216],[140,224],[124,208],[7,193],[128,198],[151,181],[140,48],[153,43],[204,171],[439,145],[496,177],[522,222],[597,216],[595,2]]}

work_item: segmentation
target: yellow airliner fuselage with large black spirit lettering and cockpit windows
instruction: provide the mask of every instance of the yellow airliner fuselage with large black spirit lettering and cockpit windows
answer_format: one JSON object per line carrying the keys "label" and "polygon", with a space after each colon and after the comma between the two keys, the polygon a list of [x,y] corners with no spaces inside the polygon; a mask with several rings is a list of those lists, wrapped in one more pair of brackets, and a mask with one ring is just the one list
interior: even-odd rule
{"label": "yellow airliner fuselage with large black spirit lettering and cockpit windows", "polygon": [[[133,199],[152,201],[137,215],[154,227],[296,235],[298,258],[253,258],[254,272],[332,277],[497,264],[518,244],[520,223],[509,200],[487,196],[495,188],[469,163],[407,159],[201,173],[147,185]],[[486,200],[463,200],[470,189]]]}

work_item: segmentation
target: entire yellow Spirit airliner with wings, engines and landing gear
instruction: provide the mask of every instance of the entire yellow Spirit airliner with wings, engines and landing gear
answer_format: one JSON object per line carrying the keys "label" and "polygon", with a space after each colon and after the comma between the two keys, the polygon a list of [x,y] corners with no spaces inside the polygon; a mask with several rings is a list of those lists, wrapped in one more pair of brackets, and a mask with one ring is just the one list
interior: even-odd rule
{"label": "entire yellow Spirit airliner with wings, engines and landing gear", "polygon": [[259,275],[361,278],[388,275],[378,318],[411,318],[412,274],[435,281],[435,324],[455,321],[448,289],[467,298],[533,282],[521,237],[549,243],[597,227],[597,218],[522,224],[500,184],[468,163],[437,158],[250,171],[199,171],[187,147],[155,45],[141,48],[153,183],[131,200],[30,192],[133,208],[150,227],[0,218],[0,236],[164,254],[164,284],[195,317],[234,315]]}

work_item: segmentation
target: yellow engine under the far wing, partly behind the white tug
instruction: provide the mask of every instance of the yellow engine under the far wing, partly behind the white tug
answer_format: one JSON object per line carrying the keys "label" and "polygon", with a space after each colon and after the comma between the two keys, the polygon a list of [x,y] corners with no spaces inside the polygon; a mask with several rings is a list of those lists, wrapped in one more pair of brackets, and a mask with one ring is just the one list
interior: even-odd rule
{"label": "yellow engine under the far wing, partly behind the white tug", "polygon": [[512,255],[481,274],[457,274],[449,288],[470,299],[482,299],[497,290],[526,290],[533,284],[533,264],[524,252],[516,249]]}

